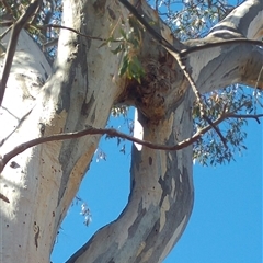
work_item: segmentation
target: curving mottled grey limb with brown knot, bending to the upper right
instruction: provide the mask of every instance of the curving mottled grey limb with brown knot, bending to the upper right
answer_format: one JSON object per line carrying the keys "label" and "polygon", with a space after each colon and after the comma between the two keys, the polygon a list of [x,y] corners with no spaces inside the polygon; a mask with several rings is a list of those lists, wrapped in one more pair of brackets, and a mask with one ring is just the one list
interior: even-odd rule
{"label": "curving mottled grey limb with brown knot, bending to the upper right", "polygon": [[[148,15],[151,13],[146,5],[142,9]],[[258,14],[260,11],[258,5]],[[245,19],[242,14],[240,19]],[[231,19],[226,21],[231,23]],[[221,27],[215,28],[205,42],[228,39],[229,35],[240,37],[232,34],[236,28],[228,28],[228,34],[221,32]],[[176,39],[174,42],[180,46]],[[185,46],[199,42],[187,42]],[[129,83],[129,93],[124,98],[132,100],[140,111],[144,139],[174,145],[192,134],[194,96],[176,61],[156,46],[151,37],[145,36],[144,44],[141,57],[146,78],[141,85]],[[255,84],[262,58],[262,49],[256,46],[231,44],[191,54],[186,65],[197,88],[205,93],[235,82]],[[192,147],[165,152],[134,146],[126,208],[116,221],[99,230],[68,262],[161,262],[188,221],[193,188]]]}

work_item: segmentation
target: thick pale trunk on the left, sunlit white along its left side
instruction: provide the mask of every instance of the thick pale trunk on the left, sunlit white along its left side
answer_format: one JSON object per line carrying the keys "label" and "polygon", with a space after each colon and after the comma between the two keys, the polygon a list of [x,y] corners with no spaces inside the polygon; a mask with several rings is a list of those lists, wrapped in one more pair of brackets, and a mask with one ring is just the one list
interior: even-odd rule
{"label": "thick pale trunk on the left, sunlit white along its left side", "polygon": [[[114,1],[107,1],[106,7],[113,9],[112,4]],[[108,37],[108,16],[107,13],[98,14],[100,7],[95,9],[91,1],[77,3],[70,0],[64,1],[64,7],[65,26],[84,35]],[[7,39],[8,35],[2,43]],[[1,146],[1,155],[32,138],[79,130],[85,125],[105,126],[124,85],[117,76],[119,57],[108,47],[98,48],[98,41],[61,31],[54,71],[47,80],[49,71],[45,70],[46,62],[38,46],[24,31],[19,42],[0,114],[4,123],[0,129],[1,138],[7,138],[21,116],[33,110]],[[41,76],[35,66],[38,58]],[[45,125],[44,134],[42,124]],[[79,140],[44,144],[16,156],[15,168],[4,167],[0,179],[1,196],[8,196],[10,204],[0,199],[1,219],[9,221],[9,227],[1,232],[5,248],[3,262],[48,262],[59,225],[99,139],[100,136],[93,135]]]}

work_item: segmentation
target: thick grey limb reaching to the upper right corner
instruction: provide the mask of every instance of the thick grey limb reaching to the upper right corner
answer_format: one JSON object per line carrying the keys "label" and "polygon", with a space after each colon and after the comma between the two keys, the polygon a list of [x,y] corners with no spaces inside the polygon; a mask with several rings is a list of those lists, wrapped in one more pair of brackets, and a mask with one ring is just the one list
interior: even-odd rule
{"label": "thick grey limb reaching to the upper right corner", "polygon": [[185,43],[182,54],[186,55],[186,70],[192,72],[201,93],[232,83],[263,89],[263,43],[256,41],[263,33],[262,15],[262,0],[245,1],[205,38]]}

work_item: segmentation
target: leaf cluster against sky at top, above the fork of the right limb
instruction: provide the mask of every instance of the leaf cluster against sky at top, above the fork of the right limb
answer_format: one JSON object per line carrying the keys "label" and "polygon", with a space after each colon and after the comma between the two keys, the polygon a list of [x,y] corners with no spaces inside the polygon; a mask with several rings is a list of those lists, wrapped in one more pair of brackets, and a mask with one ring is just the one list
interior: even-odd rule
{"label": "leaf cluster against sky at top, above the fork of the right limb", "polygon": [[241,1],[148,0],[181,41],[197,38],[229,14]]}

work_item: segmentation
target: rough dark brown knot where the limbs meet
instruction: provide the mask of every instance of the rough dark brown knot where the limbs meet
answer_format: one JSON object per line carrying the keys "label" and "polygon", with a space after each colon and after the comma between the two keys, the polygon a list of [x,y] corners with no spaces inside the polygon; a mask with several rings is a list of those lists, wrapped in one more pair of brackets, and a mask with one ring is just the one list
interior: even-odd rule
{"label": "rough dark brown knot where the limbs meet", "polygon": [[135,105],[151,122],[162,119],[167,114],[167,99],[173,95],[178,72],[170,57],[162,56],[159,60],[144,58],[145,76],[140,83],[127,80],[126,89],[121,94],[121,102],[127,101]]}

